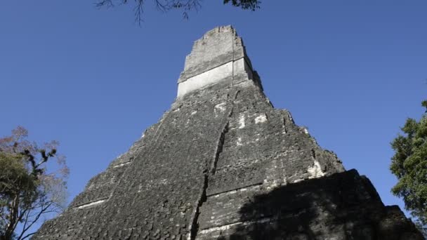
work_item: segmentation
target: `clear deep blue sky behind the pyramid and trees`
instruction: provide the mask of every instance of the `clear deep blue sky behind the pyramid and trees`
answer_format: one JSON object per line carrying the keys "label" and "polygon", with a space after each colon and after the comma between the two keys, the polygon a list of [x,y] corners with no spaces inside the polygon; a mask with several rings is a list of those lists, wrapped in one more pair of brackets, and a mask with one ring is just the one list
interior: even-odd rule
{"label": "clear deep blue sky behind the pyramid and trees", "polygon": [[147,0],[138,27],[131,6],[1,1],[0,135],[22,125],[59,140],[71,200],[169,109],[192,42],[231,24],[275,107],[402,207],[389,142],[423,113],[427,1],[264,0],[256,12],[221,2],[183,20]]}

